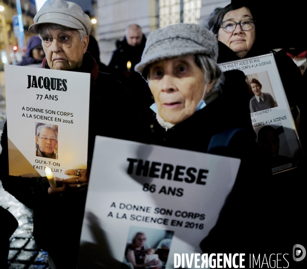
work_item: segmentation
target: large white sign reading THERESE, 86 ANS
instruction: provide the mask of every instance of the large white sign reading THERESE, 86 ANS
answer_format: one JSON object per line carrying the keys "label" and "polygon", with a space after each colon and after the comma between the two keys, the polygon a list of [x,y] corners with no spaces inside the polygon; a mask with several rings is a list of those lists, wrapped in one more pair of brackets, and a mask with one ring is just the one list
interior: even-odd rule
{"label": "large white sign reading THERESE, 86 ANS", "polygon": [[79,268],[91,267],[89,262],[129,265],[136,244],[142,245],[134,257],[139,264],[155,259],[169,269],[174,253],[200,253],[239,164],[235,158],[96,136]]}

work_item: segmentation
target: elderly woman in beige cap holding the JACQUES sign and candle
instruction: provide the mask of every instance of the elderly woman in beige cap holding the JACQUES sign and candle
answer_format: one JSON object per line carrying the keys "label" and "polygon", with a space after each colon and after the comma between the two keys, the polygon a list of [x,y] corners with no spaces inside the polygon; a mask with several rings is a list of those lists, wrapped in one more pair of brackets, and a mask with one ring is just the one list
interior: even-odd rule
{"label": "elderly woman in beige cap holding the JACQUES sign and candle", "polygon": [[65,171],[66,175],[75,177],[57,179],[57,187],[50,187],[46,177],[9,176],[6,125],[1,139],[3,186],[33,210],[34,238],[37,246],[48,251],[51,268],[76,268],[95,136],[139,140],[141,133],[131,94],[111,75],[98,72],[97,63],[86,52],[91,27],[89,16],[77,4],[47,0],[29,29],[42,40],[46,53],[42,68],[91,74],[91,85],[83,89],[90,90],[89,140],[80,141],[88,144],[87,169]]}

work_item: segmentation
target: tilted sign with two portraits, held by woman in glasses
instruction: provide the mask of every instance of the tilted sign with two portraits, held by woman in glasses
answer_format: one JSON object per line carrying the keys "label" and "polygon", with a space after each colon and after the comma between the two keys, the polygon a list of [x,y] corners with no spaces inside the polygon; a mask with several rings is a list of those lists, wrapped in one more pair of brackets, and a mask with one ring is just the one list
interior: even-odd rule
{"label": "tilted sign with two portraits, held by woman in glasses", "polygon": [[219,64],[242,70],[249,86],[251,121],[272,173],[297,165],[300,142],[273,54]]}

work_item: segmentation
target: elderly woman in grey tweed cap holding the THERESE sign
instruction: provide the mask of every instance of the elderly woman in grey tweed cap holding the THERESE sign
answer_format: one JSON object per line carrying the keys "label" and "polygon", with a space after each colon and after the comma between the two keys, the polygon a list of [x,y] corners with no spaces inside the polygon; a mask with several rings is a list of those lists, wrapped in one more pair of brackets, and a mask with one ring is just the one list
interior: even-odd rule
{"label": "elderly woman in grey tweed cap holding the THERESE sign", "polygon": [[[241,159],[225,208],[202,244],[207,253],[239,253],[241,246],[249,246],[249,242],[255,246],[261,238],[261,224],[254,216],[265,214],[265,202],[261,204],[265,195],[257,182],[270,177],[271,172],[269,167],[265,169],[255,143],[248,107],[238,109],[238,102],[233,104],[223,94],[237,93],[240,80],[247,87],[245,76],[238,70],[222,74],[217,53],[212,32],[200,25],[181,23],[151,32],[135,69],[148,81],[155,98],[151,109],[156,115],[147,132],[148,143]],[[233,85],[227,83],[229,76]],[[212,92],[218,92],[215,98]],[[256,170],[251,159],[257,160]],[[257,229],[250,234],[248,229],[255,225]]]}

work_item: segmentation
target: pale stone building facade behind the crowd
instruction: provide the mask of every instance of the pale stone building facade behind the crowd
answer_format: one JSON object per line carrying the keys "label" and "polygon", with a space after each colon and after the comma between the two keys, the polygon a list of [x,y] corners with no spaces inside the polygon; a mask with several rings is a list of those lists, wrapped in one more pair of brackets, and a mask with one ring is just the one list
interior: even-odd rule
{"label": "pale stone building facade behind the crowd", "polygon": [[[98,23],[95,34],[100,48],[100,60],[106,65],[115,50],[115,42],[124,37],[125,28],[131,23],[141,26],[147,36],[150,31],[159,28],[159,14],[162,5],[171,7],[196,0],[92,0]],[[216,7],[225,7],[230,0],[200,0],[198,22],[203,24]],[[184,10],[183,5],[179,7]],[[180,14],[178,14],[180,16]]]}

